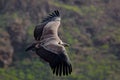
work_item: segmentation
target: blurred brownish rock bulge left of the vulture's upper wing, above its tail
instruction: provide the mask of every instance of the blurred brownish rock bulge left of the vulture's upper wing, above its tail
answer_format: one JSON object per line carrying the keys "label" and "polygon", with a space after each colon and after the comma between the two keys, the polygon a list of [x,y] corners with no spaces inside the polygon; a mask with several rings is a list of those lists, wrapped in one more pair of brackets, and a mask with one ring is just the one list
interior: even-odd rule
{"label": "blurred brownish rock bulge left of the vulture's upper wing, above its tail", "polygon": [[7,31],[10,34],[12,45],[15,47],[16,50],[20,50],[22,45],[24,44],[23,41],[25,40],[26,32],[24,26],[15,22],[7,27]]}

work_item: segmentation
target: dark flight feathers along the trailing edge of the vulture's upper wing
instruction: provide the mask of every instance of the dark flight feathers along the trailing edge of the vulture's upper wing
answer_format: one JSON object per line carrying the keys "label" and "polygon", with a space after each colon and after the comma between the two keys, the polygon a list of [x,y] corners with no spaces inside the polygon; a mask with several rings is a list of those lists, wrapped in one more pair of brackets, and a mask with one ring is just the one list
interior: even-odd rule
{"label": "dark flight feathers along the trailing edge of the vulture's upper wing", "polygon": [[[37,25],[35,27],[35,30],[34,30],[34,38],[35,40],[39,41],[41,36],[42,36],[42,33],[43,33],[43,30],[44,30],[44,27],[50,22],[50,21],[53,21],[56,17],[59,17],[60,14],[58,12],[58,10],[54,11],[53,13],[49,14],[46,18],[44,18],[41,22],[41,25]],[[49,25],[50,26],[50,25]]]}

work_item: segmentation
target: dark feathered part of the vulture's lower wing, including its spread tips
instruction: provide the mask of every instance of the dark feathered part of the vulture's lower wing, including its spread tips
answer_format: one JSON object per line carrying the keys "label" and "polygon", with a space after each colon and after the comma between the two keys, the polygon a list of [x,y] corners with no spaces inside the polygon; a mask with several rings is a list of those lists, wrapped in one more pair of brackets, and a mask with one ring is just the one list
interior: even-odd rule
{"label": "dark feathered part of the vulture's lower wing, including its spread tips", "polygon": [[46,47],[41,46],[38,50],[36,50],[36,53],[50,64],[53,74],[59,76],[71,74],[72,66],[65,50],[58,50],[57,52],[54,52],[53,50],[49,50]]}

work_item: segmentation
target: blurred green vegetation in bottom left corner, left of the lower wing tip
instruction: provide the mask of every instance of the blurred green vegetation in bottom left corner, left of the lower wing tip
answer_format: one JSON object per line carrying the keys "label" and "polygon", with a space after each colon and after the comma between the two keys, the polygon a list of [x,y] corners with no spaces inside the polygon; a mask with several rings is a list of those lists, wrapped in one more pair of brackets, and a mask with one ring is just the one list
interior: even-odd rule
{"label": "blurred green vegetation in bottom left corner, left of the lower wing tip", "polygon": [[[3,77],[4,80],[52,80],[47,66],[48,64],[45,65],[39,60],[23,60],[17,63],[16,67],[7,70],[0,69],[0,77]],[[48,72],[46,73],[46,71]]]}

